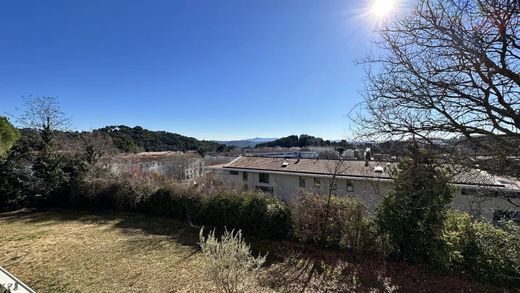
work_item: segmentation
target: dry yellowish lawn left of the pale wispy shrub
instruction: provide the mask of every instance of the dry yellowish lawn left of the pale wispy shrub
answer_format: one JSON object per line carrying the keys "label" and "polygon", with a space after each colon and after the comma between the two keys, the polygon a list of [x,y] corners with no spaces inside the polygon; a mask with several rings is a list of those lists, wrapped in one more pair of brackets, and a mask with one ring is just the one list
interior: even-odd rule
{"label": "dry yellowish lawn left of the pale wispy shrub", "polygon": [[38,292],[201,292],[197,231],[138,214],[0,216],[0,264]]}

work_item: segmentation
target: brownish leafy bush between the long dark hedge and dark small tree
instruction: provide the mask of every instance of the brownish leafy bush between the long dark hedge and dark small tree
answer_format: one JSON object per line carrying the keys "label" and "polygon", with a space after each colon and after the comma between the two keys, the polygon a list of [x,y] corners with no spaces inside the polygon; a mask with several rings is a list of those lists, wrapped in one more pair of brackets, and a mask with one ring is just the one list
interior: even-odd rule
{"label": "brownish leafy bush between the long dark hedge and dark small tree", "polygon": [[292,205],[297,239],[320,246],[371,250],[376,246],[365,205],[356,198],[300,194]]}

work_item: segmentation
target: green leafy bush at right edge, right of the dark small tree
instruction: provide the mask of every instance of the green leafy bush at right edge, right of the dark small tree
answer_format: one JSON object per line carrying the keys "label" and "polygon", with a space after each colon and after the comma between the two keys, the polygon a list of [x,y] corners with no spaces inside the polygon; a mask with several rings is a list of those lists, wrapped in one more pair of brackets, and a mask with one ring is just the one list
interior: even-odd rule
{"label": "green leafy bush at right edge, right of the dark small tree", "polygon": [[520,226],[504,222],[502,228],[451,211],[443,240],[447,266],[480,280],[520,286]]}

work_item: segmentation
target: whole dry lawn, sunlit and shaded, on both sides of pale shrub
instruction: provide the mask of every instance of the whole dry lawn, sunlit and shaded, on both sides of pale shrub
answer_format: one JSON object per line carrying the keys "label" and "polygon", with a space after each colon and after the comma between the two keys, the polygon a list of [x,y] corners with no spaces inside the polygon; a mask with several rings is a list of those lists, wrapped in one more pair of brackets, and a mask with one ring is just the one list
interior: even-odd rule
{"label": "whole dry lawn, sunlit and shaded, on both sides of pale shrub", "polygon": [[[0,214],[0,235],[0,265],[37,292],[216,291],[202,270],[198,230],[174,220],[120,212],[19,211]],[[256,241],[253,247],[269,251],[258,291],[505,291],[289,242]]]}

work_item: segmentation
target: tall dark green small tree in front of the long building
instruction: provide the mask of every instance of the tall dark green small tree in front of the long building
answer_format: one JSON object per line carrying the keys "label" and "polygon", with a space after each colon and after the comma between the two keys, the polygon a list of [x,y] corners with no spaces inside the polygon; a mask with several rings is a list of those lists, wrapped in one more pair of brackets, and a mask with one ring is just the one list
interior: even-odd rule
{"label": "tall dark green small tree in front of the long building", "polygon": [[378,208],[377,225],[394,256],[432,263],[443,248],[440,239],[454,190],[445,172],[414,151],[395,171],[394,186]]}

